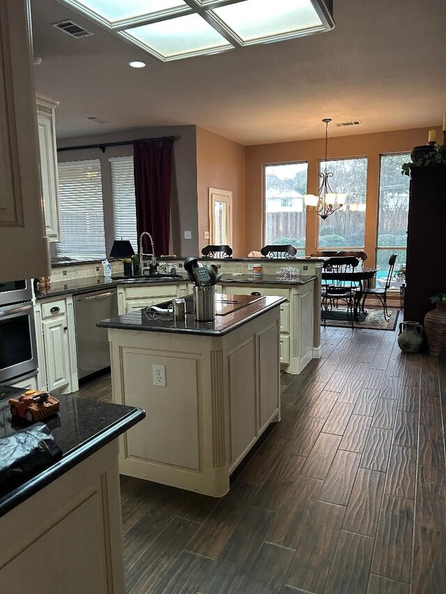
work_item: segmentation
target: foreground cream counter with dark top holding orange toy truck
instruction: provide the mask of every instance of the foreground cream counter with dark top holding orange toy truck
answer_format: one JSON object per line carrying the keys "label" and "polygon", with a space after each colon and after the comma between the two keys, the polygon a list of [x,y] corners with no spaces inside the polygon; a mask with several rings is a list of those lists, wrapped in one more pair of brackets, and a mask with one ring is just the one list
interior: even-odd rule
{"label": "foreground cream counter with dark top holding orange toy truck", "polygon": [[[21,393],[0,386],[2,438],[26,426],[8,405]],[[62,458],[0,485],[0,591],[124,594],[117,438],[144,411],[58,398],[59,414],[44,422]]]}

